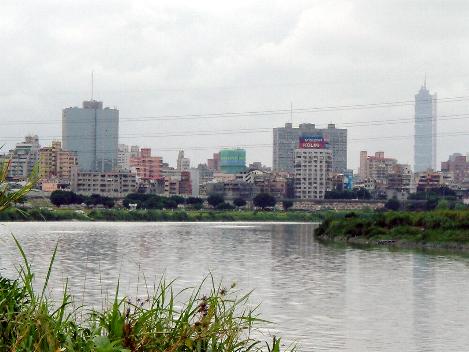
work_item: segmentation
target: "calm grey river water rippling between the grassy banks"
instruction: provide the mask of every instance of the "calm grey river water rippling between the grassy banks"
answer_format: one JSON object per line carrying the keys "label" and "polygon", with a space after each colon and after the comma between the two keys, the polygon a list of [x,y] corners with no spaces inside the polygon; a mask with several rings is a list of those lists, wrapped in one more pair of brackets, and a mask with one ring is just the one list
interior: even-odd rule
{"label": "calm grey river water rippling between the grassy banks", "polygon": [[[314,225],[279,223],[5,223],[0,273],[15,276],[13,233],[38,280],[53,248],[51,294],[65,278],[77,301],[101,302],[117,280],[142,293],[143,276],[179,288],[211,272],[254,289],[271,333],[301,351],[469,350],[469,259],[324,245]],[[139,291],[140,290],[140,291]]]}

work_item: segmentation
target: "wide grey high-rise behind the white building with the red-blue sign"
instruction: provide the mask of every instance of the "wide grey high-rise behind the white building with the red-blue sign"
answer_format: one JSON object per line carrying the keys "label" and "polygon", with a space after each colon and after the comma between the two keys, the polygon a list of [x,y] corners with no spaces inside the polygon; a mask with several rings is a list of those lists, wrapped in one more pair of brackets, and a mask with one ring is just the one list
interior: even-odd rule
{"label": "wide grey high-rise behind the white building with the red-blue sign", "polygon": [[295,171],[295,149],[301,136],[322,136],[332,150],[332,171],[344,173],[347,170],[347,129],[336,128],[329,124],[327,128],[316,128],[314,124],[303,123],[293,127],[286,123],[285,127],[273,130],[273,171]]}

